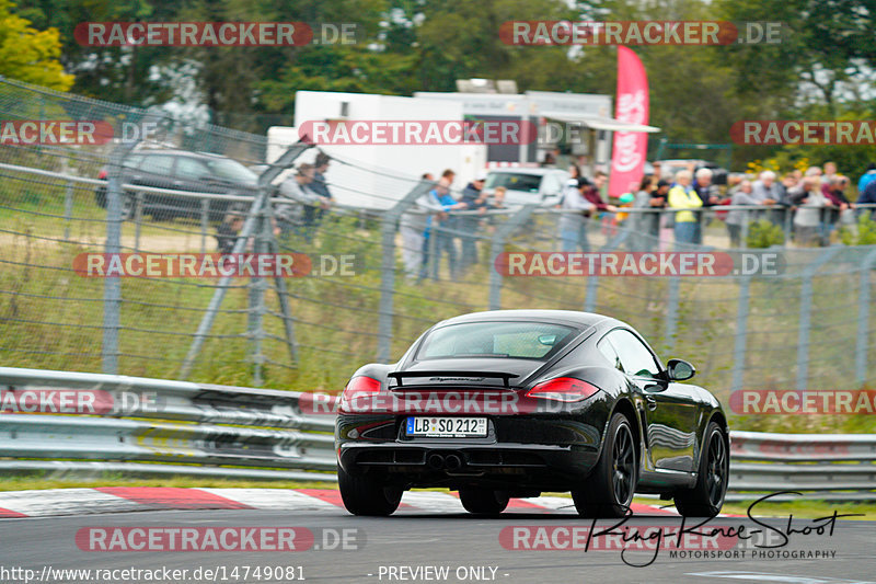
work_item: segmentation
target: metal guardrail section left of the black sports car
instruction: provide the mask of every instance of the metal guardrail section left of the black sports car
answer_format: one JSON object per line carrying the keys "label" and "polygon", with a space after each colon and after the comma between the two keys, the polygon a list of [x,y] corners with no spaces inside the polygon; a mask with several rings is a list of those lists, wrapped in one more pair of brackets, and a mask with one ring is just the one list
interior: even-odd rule
{"label": "metal guardrail section left of the black sports car", "polygon": [[299,392],[11,367],[0,392],[2,410],[41,411],[0,414],[5,470],[335,480],[318,473],[335,469],[334,421]]}

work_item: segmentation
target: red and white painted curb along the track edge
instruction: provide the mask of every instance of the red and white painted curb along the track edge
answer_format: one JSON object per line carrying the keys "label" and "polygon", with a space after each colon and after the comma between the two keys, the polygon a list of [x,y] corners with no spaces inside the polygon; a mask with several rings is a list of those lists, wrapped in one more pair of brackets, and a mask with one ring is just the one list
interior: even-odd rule
{"label": "red and white painted curb along the track edge", "polygon": [[[134,511],[269,509],[343,512],[333,489],[178,489],[166,486],[99,486],[0,492],[0,518],[51,517]],[[450,493],[408,491],[397,513],[464,513]],[[572,499],[540,496],[512,499],[509,513],[575,514]],[[633,504],[635,515],[678,515],[675,508]]]}

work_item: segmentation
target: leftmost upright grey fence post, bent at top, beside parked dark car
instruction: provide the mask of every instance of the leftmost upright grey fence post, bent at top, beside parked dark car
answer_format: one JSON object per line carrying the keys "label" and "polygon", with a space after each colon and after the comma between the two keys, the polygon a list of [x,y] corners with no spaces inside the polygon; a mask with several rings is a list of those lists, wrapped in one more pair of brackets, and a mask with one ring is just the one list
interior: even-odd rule
{"label": "leftmost upright grey fence post, bent at top, beside parked dark car", "polygon": [[[117,254],[122,250],[122,197],[124,196],[122,192],[122,163],[139,141],[139,137],[131,140],[123,140],[110,154],[106,175],[105,253]],[[118,374],[118,331],[120,328],[122,282],[117,277],[104,278],[101,370],[105,374]]]}

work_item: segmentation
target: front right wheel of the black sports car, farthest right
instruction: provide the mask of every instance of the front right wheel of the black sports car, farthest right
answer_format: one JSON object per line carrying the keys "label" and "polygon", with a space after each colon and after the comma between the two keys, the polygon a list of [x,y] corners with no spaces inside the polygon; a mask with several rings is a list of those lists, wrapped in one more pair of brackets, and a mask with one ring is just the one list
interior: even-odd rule
{"label": "front right wheel of the black sports car, farthest right", "polygon": [[693,489],[675,494],[676,508],[684,517],[714,517],[724,506],[727,480],[730,474],[730,456],[727,435],[716,423],[710,422],[705,431],[705,448],[700,455],[700,470]]}

